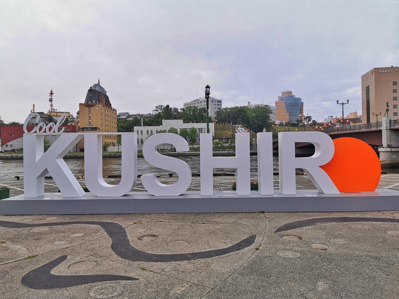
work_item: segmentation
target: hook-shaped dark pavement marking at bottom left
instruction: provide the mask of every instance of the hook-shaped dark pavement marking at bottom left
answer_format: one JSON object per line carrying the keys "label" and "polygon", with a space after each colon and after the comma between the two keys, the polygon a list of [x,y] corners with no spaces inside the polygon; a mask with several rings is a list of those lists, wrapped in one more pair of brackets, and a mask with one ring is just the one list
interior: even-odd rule
{"label": "hook-shaped dark pavement marking at bottom left", "polygon": [[69,288],[86,284],[109,282],[116,280],[137,281],[138,278],[123,275],[54,275],[51,270],[64,262],[68,256],[60,256],[55,260],[40,266],[21,278],[21,284],[34,290],[51,290]]}

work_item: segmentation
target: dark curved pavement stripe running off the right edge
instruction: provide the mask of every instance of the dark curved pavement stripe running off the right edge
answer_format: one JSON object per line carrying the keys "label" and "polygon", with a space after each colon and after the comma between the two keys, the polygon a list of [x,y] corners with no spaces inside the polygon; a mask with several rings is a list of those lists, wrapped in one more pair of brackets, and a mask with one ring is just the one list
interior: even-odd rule
{"label": "dark curved pavement stripe running off the right edge", "polygon": [[344,223],[344,222],[386,222],[386,223],[399,223],[399,219],[397,218],[378,218],[378,217],[321,217],[321,218],[312,218],[312,219],[304,219],[299,221],[293,221],[286,224],[281,225],[274,232],[284,232],[295,228],[301,228],[305,226],[314,226],[321,224],[330,224],[330,223]]}

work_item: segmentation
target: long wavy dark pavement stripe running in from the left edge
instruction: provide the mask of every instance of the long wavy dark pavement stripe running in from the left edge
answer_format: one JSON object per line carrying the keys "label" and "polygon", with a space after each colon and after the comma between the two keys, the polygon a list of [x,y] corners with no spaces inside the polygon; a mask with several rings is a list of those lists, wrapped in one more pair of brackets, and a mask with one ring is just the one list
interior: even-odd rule
{"label": "long wavy dark pavement stripe running in from the left edge", "polygon": [[36,224],[36,223],[19,223],[19,222],[0,220],[0,227],[4,228],[30,228],[30,227],[60,226],[60,225],[73,225],[73,224],[101,226],[101,228],[111,238],[112,251],[120,258],[133,262],[182,262],[182,261],[192,261],[198,259],[212,258],[247,248],[251,246],[256,239],[256,235],[252,235],[230,247],[220,248],[215,250],[192,252],[192,253],[180,253],[180,254],[155,254],[155,253],[144,252],[133,247],[130,244],[128,235],[123,226],[115,222],[71,221],[71,222],[53,222],[53,223]]}

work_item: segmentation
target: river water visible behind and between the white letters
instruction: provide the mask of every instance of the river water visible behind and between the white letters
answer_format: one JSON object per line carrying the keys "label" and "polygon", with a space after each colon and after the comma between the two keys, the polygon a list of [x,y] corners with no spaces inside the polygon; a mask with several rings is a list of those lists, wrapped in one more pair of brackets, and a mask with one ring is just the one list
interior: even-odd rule
{"label": "river water visible behind and between the white letters", "polygon": [[[200,172],[200,156],[182,156],[179,157],[186,161],[191,167],[193,173]],[[103,159],[103,176],[120,175],[121,174],[121,158],[104,158]],[[84,159],[65,159],[66,164],[74,175],[84,174]],[[156,173],[162,176],[168,175],[171,171],[154,167],[147,161],[139,157],[137,161],[138,174]],[[250,156],[251,173],[257,172],[257,155]],[[278,158],[273,157],[274,171],[278,171]],[[383,168],[388,173],[399,173],[399,168]],[[214,172],[234,172],[234,169],[214,169]],[[15,175],[23,175],[23,160],[0,160],[0,178],[13,177]]]}

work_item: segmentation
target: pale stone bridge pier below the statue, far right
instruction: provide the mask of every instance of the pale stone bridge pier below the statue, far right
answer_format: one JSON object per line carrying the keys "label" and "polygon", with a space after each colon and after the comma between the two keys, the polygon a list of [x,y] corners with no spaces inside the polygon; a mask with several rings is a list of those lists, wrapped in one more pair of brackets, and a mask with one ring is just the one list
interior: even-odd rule
{"label": "pale stone bridge pier below the statue, far right", "polygon": [[383,117],[383,146],[378,149],[380,162],[385,166],[399,166],[399,132],[391,130],[391,118]]}

